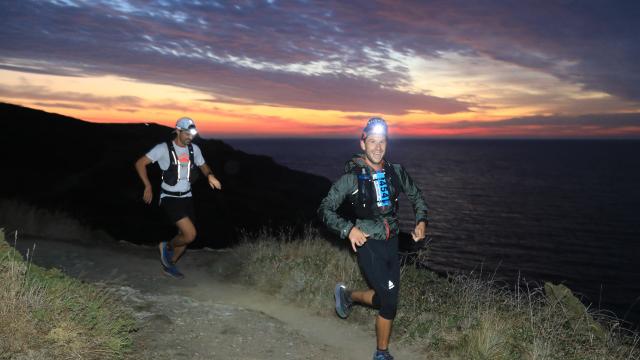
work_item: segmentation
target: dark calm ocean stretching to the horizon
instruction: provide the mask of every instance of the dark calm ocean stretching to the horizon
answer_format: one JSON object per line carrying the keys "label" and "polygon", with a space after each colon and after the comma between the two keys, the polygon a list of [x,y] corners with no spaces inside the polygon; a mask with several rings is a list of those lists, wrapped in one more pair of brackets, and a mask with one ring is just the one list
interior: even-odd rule
{"label": "dark calm ocean stretching to the horizon", "polygon": [[[226,139],[337,179],[353,139]],[[564,283],[640,323],[640,141],[392,139],[430,208],[428,266],[507,284]],[[402,228],[413,226],[400,198]]]}

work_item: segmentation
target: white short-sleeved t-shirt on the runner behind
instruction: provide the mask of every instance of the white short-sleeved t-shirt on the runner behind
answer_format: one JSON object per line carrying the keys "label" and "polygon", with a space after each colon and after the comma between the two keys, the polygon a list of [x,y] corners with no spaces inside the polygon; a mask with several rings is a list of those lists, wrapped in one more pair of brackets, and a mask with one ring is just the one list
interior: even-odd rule
{"label": "white short-sleeved t-shirt on the runner behind", "polygon": [[[202,166],[204,164],[204,157],[202,157],[202,152],[198,145],[193,144],[193,161],[196,163],[196,166]],[[188,174],[189,174],[189,148],[181,147],[176,145],[176,142],[173,142],[173,148],[176,151],[176,155],[178,156],[178,163],[180,164],[180,178],[175,186],[171,186],[164,181],[162,182],[161,187],[167,191],[172,192],[185,192],[191,190],[191,183],[189,182]],[[169,165],[171,165],[171,158],[169,154],[169,149],[167,148],[166,143],[160,143],[151,149],[146,156],[151,160],[152,163],[158,162],[158,166],[160,166],[161,170],[167,170]],[[200,170],[193,170],[200,171]],[[167,194],[160,194],[160,198],[165,196],[172,196]],[[188,197],[191,196],[191,193],[182,195],[180,197]]]}

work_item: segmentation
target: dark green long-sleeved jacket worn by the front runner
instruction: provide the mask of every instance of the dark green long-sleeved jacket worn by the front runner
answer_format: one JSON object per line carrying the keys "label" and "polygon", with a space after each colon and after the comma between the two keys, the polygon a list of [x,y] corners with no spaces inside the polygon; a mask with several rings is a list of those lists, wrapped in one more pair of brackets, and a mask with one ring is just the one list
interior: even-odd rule
{"label": "dark green long-sleeved jacket worn by the front runner", "polygon": [[[339,233],[343,239],[348,238],[351,229],[357,226],[364,233],[369,234],[369,239],[386,240],[387,225],[390,236],[397,236],[400,232],[398,214],[396,213],[397,206],[395,206],[395,204],[389,208],[387,213],[379,213],[374,219],[355,219],[355,223],[336,213],[336,210],[342,202],[358,190],[358,177],[353,169],[355,167],[365,167],[370,174],[373,170],[365,164],[363,156],[364,155],[357,155],[346,163],[345,174],[333,183],[331,189],[329,189],[329,193],[320,203],[318,216],[328,228]],[[413,204],[416,224],[420,221],[427,222],[428,208],[422,192],[415,185],[402,165],[392,164],[392,167],[397,174],[397,177],[392,177],[392,179],[398,179],[400,184],[391,183],[391,193],[399,194],[400,192],[404,192]]]}

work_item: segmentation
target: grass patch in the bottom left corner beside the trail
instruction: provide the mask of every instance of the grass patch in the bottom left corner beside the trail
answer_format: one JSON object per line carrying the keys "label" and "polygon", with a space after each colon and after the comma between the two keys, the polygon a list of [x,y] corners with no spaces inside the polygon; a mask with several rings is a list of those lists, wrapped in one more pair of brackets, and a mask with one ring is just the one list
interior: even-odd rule
{"label": "grass patch in the bottom left corner beside the trail", "polygon": [[24,261],[0,229],[0,359],[119,359],[134,325],[105,289]]}

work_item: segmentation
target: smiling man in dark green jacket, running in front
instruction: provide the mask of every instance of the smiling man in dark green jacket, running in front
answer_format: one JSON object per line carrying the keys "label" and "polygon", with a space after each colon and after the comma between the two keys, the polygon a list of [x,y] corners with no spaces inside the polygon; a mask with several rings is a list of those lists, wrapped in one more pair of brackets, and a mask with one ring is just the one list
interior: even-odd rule
{"label": "smiling man in dark green jacket, running in front", "polygon": [[[349,316],[354,302],[379,309],[376,317],[377,349],[374,360],[393,359],[389,354],[391,325],[398,306],[400,262],[398,258],[398,195],[404,192],[416,216],[411,233],[414,241],[425,237],[427,204],[404,167],[384,158],[387,125],[381,118],[367,122],[360,139],[364,151],[347,162],[340,177],[322,200],[318,214],[330,229],[349,239],[357,253],[358,264],[371,289],[350,291],[342,283],[335,288],[336,312]],[[336,211],[348,200],[355,219],[346,219]]]}

